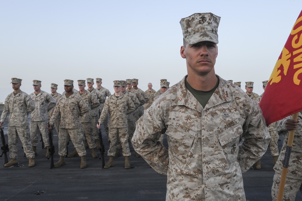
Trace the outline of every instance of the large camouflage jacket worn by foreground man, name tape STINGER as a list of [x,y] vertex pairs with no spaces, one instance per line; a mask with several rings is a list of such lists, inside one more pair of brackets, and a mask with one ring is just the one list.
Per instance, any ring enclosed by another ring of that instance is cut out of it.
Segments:
[[[218,78],[205,108],[183,78],[136,123],[132,145],[154,170],[167,174],[166,200],[245,200],[241,173],[267,149],[270,136],[259,105]],[[157,142],[162,133],[169,150]]]

